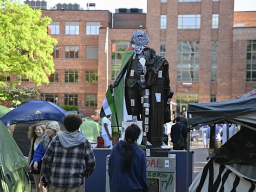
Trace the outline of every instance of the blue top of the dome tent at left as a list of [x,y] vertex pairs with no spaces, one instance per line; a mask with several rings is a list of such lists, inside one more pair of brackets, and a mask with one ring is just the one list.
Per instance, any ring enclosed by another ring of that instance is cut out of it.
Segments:
[[7,112],[1,117],[1,121],[5,126],[31,120],[58,120],[63,122],[65,114],[66,111],[53,102],[32,100]]

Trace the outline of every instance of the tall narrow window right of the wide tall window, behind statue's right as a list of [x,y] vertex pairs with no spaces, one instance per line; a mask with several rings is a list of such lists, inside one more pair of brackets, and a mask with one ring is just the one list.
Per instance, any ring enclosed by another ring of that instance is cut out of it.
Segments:
[[211,41],[210,81],[217,81],[218,41]]

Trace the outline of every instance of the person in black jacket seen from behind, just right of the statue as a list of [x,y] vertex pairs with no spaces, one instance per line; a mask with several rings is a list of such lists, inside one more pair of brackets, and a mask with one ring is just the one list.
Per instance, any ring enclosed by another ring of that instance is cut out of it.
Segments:
[[182,136],[186,140],[186,126],[181,123],[180,116],[177,116],[176,117],[176,123],[171,126],[171,131],[170,131],[171,142],[173,143],[173,149],[174,150],[186,149],[184,147],[178,146],[178,144],[177,144],[178,139],[180,138],[180,136]]

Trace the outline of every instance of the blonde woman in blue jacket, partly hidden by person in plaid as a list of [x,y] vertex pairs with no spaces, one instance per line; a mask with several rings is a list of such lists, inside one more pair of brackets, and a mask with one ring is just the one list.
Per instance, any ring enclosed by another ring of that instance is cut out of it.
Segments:
[[[60,127],[57,121],[55,120],[50,120],[46,123],[46,135],[44,135],[37,146],[36,150],[34,151],[33,154],[33,169],[38,170],[40,172],[40,164],[41,164],[41,159],[47,149],[47,146],[50,142],[50,140],[60,133]],[[39,191],[46,191],[46,188],[44,186],[40,186],[40,190],[36,190],[36,192]]]

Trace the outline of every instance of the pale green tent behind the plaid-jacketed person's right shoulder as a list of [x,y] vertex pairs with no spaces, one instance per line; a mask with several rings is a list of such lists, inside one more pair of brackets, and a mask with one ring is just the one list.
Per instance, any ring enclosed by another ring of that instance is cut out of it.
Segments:
[[94,120],[85,119],[80,126],[80,130],[87,139],[96,141],[99,136],[101,126]]

